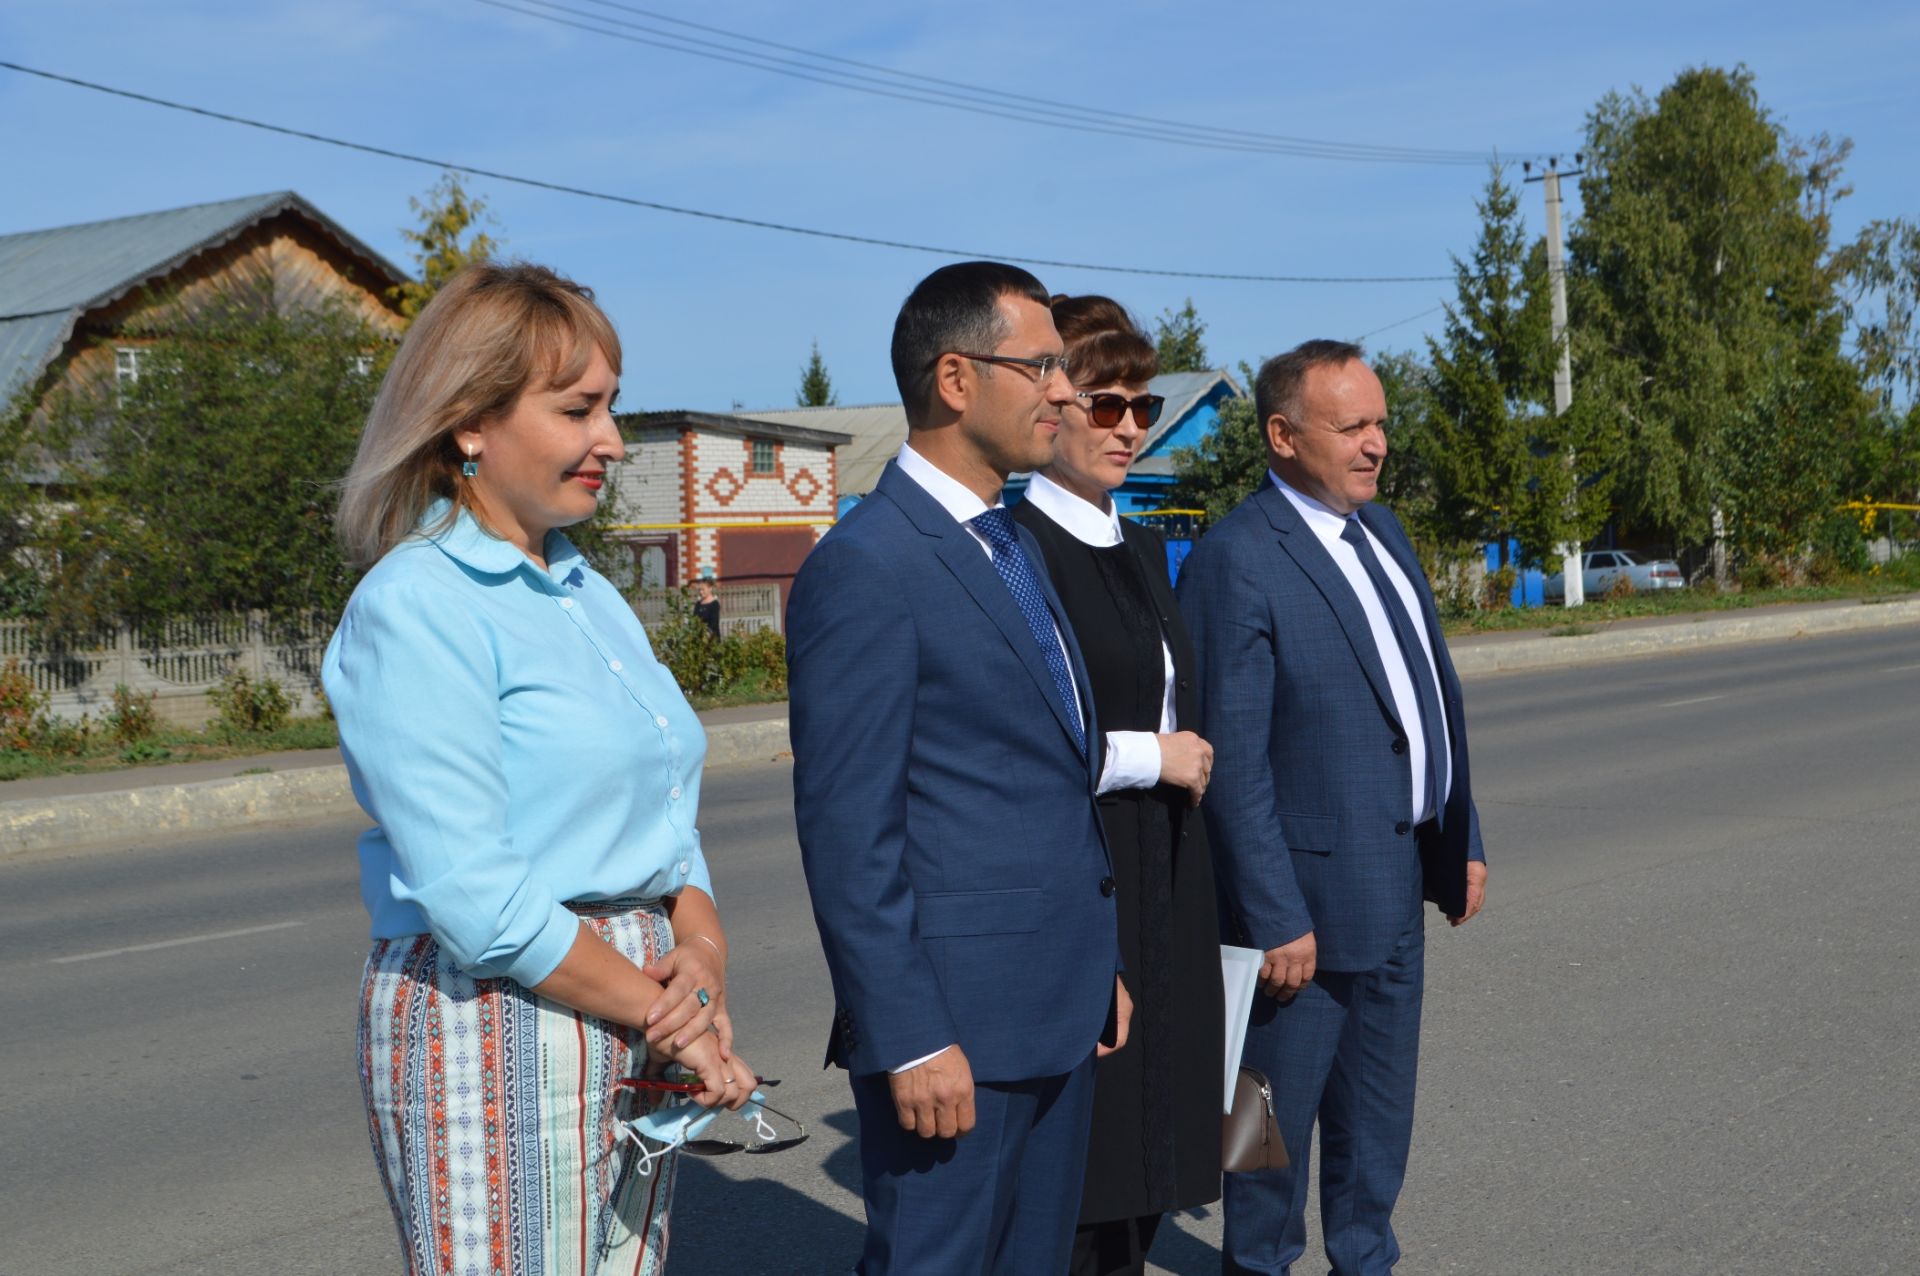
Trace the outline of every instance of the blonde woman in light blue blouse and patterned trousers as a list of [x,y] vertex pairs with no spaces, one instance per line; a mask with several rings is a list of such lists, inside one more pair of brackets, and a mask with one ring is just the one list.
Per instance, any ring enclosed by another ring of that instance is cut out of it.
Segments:
[[[367,578],[323,679],[372,954],[361,1082],[411,1272],[657,1272],[674,1157],[620,1122],[649,1063],[739,1107],[707,739],[566,541],[624,447],[620,342],[532,265],[459,272],[407,332],[340,501]],[[657,1092],[647,1092],[657,1094]]]

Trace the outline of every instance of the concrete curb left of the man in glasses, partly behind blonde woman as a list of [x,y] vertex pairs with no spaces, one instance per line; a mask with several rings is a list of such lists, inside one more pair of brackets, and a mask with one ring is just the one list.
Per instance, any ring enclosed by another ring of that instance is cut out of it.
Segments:
[[[707,727],[707,766],[776,762],[789,752],[787,720]],[[357,810],[344,766],[232,775],[190,785],[0,802],[0,858],[169,833],[217,833]]]

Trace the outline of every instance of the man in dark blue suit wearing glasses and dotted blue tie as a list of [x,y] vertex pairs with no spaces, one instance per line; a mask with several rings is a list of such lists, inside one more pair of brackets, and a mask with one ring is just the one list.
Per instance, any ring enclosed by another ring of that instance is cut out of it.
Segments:
[[1131,1013],[1087,670],[1000,505],[1073,397],[1048,295],[964,263],[893,330],[908,439],[787,604],[793,808],[851,1073],[858,1270],[1064,1272]]

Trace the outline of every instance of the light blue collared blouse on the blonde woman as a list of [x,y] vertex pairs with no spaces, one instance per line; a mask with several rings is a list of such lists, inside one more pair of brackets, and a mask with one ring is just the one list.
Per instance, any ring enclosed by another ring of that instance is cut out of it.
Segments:
[[372,936],[430,933],[470,975],[522,984],[580,933],[566,900],[712,894],[707,733],[620,593],[559,532],[545,551],[541,572],[465,512],[403,541],[321,670],[376,821],[359,839]]

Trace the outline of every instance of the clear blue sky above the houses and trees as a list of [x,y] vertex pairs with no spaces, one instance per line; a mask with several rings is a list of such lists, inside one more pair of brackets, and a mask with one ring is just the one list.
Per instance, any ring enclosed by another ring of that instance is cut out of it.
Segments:
[[[515,0],[520,2],[520,0]],[[641,21],[595,0],[559,0]],[[636,0],[924,77],[1336,142],[1571,155],[1607,90],[1745,63],[1797,134],[1851,136],[1843,234],[1920,215],[1920,6],[1279,0],[833,6]],[[1357,17],[1356,17],[1357,15]],[[543,180],[979,253],[1256,274],[1448,274],[1478,167],[1246,155],[956,113],[476,0],[0,0],[0,58]],[[1016,107],[1018,109],[1018,107]],[[0,71],[0,232],[294,188],[407,263],[430,169]],[[818,340],[843,403],[895,397],[899,299],[941,257],[472,182],[507,251],[589,284],[622,403],[789,405]],[[1576,192],[1569,184],[1569,198]],[[1540,186],[1526,188],[1542,224]],[[1574,203],[1576,209],[1576,203]],[[1419,347],[1448,284],[1248,284],[1037,271],[1150,320],[1192,297],[1217,363],[1309,336]],[[1409,320],[1409,322],[1400,322]],[[1384,328],[1384,330],[1382,330]]]

